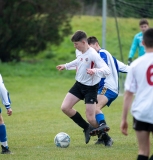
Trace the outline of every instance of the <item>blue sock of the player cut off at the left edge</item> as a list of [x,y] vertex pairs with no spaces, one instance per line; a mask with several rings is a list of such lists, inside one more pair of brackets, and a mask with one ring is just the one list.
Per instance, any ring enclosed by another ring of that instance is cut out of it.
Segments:
[[0,141],[4,147],[8,148],[5,124],[0,124]]

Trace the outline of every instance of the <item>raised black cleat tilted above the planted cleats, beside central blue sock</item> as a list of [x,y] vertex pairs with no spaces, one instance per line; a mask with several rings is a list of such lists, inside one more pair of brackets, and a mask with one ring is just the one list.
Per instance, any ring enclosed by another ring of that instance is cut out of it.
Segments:
[[108,132],[109,130],[110,130],[110,128],[106,124],[102,124],[98,128],[93,129],[90,132],[90,135],[91,136],[96,136],[96,135],[99,135],[100,133]]

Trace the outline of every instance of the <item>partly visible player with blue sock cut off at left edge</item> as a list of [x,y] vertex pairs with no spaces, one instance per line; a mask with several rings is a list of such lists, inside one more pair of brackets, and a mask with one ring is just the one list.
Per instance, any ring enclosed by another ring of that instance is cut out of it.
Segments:
[[[11,101],[9,98],[9,93],[5,88],[5,85],[3,83],[2,76],[0,75],[0,98],[2,100],[3,105],[5,106],[7,110],[8,116],[12,115],[12,109],[11,109]],[[11,151],[9,150],[8,143],[7,143],[7,135],[6,135],[6,127],[3,121],[2,113],[0,108],[0,142],[2,147],[1,154],[10,154]]]

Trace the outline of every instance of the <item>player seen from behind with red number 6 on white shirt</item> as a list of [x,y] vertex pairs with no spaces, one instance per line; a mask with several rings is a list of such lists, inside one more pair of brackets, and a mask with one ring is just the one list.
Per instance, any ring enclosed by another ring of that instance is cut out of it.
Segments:
[[[142,43],[146,53],[131,63],[125,81],[121,131],[128,135],[127,114],[132,104],[133,128],[139,147],[137,160],[148,160],[150,133],[153,133],[153,28],[144,32]],[[153,155],[149,160],[153,160]]]

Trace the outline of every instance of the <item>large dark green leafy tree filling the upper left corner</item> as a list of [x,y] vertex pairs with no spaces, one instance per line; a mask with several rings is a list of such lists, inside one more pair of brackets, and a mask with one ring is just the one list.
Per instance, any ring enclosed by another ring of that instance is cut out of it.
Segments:
[[38,54],[47,43],[60,44],[71,33],[75,0],[0,0],[0,59],[20,60],[20,53]]

